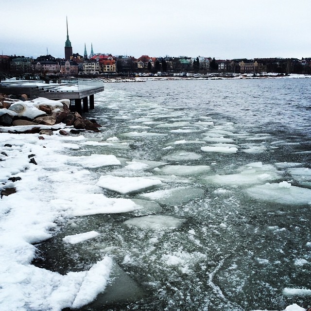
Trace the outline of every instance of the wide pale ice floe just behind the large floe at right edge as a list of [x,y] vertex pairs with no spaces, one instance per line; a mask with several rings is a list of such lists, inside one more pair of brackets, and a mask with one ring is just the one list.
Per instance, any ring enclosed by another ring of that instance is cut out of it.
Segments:
[[260,164],[257,164],[257,166],[255,164],[255,166],[242,166],[239,169],[241,173],[206,176],[203,178],[203,182],[207,184],[244,186],[262,184],[264,181],[275,180],[280,177],[279,172],[272,165],[262,165],[260,167]]

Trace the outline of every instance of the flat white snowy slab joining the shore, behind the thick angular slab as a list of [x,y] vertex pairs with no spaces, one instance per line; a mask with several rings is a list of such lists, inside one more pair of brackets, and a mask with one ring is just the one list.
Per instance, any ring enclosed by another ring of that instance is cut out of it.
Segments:
[[85,168],[97,168],[101,166],[121,165],[115,155],[70,156],[68,163],[80,164]]

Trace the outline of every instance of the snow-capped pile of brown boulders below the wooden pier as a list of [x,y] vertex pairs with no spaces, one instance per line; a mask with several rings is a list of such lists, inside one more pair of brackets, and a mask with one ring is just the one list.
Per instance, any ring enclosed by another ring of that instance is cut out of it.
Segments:
[[[84,119],[79,113],[70,111],[69,100],[51,101],[43,98],[28,100],[25,94],[20,97],[0,94],[0,132],[1,126],[12,126],[12,131],[9,132],[17,133],[14,127],[22,125],[32,125],[32,127],[21,131],[18,127],[19,133],[40,133],[42,131],[40,125],[53,126],[50,130],[52,132],[57,130],[54,125],[60,123],[72,126],[76,130],[85,129],[94,132],[99,132],[101,127],[95,120]],[[65,131],[63,133],[67,134]]]

